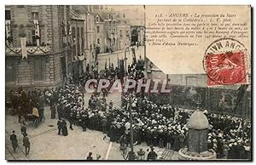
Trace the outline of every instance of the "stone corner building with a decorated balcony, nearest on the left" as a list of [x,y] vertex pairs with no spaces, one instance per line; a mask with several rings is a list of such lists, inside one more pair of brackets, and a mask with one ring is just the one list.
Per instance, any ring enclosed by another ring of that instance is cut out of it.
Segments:
[[69,6],[6,5],[6,88],[55,87],[66,77]]

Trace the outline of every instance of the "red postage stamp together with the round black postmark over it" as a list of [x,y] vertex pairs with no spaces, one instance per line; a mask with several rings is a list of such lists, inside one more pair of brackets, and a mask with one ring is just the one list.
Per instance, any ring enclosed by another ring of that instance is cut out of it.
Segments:
[[221,38],[211,43],[205,52],[203,65],[207,85],[247,83],[247,48],[233,38]]

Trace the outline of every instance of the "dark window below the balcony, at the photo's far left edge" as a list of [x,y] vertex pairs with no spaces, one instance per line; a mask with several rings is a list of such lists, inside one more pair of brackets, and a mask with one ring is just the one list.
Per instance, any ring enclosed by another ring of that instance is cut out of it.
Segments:
[[15,82],[15,80],[16,80],[15,61],[13,59],[6,60],[5,80],[7,82]]

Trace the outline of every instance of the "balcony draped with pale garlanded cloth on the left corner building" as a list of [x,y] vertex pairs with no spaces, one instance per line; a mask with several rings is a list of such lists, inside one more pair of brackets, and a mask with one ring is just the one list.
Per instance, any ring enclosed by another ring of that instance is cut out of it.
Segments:
[[[26,46],[27,55],[48,55],[49,46]],[[21,48],[5,46],[5,54],[8,56],[21,55]]]

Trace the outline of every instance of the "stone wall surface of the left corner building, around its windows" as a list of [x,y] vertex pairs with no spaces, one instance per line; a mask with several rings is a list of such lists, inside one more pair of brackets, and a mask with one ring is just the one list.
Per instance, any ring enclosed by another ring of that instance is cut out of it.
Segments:
[[[21,5],[22,6],[22,5]],[[11,31],[13,32],[14,47],[20,48],[20,25],[26,26],[27,41],[32,40],[32,12],[38,12],[39,28],[41,44],[48,43],[49,52],[28,54],[28,60],[21,59],[20,53],[6,53],[6,58],[15,60],[16,79],[14,82],[7,82],[6,88],[18,88],[25,86],[29,88],[39,88],[44,86],[55,87],[62,82],[61,71],[61,6],[51,5],[23,5],[22,8],[17,5],[8,5],[6,9],[11,11]],[[64,17],[67,14],[64,14]],[[38,46],[26,46],[26,48],[38,48]],[[45,48],[45,46],[40,46]],[[35,58],[40,58],[42,62],[43,80],[34,80],[34,66]],[[6,75],[8,76],[8,75]]]

